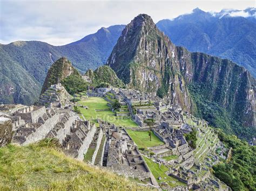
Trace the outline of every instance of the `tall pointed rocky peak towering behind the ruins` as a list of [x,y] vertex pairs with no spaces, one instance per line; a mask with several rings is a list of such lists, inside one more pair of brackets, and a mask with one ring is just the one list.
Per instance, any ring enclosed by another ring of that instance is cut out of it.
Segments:
[[106,65],[130,88],[158,94],[172,104],[180,104],[184,110],[191,110],[176,48],[150,16],[141,14],[125,27]]

